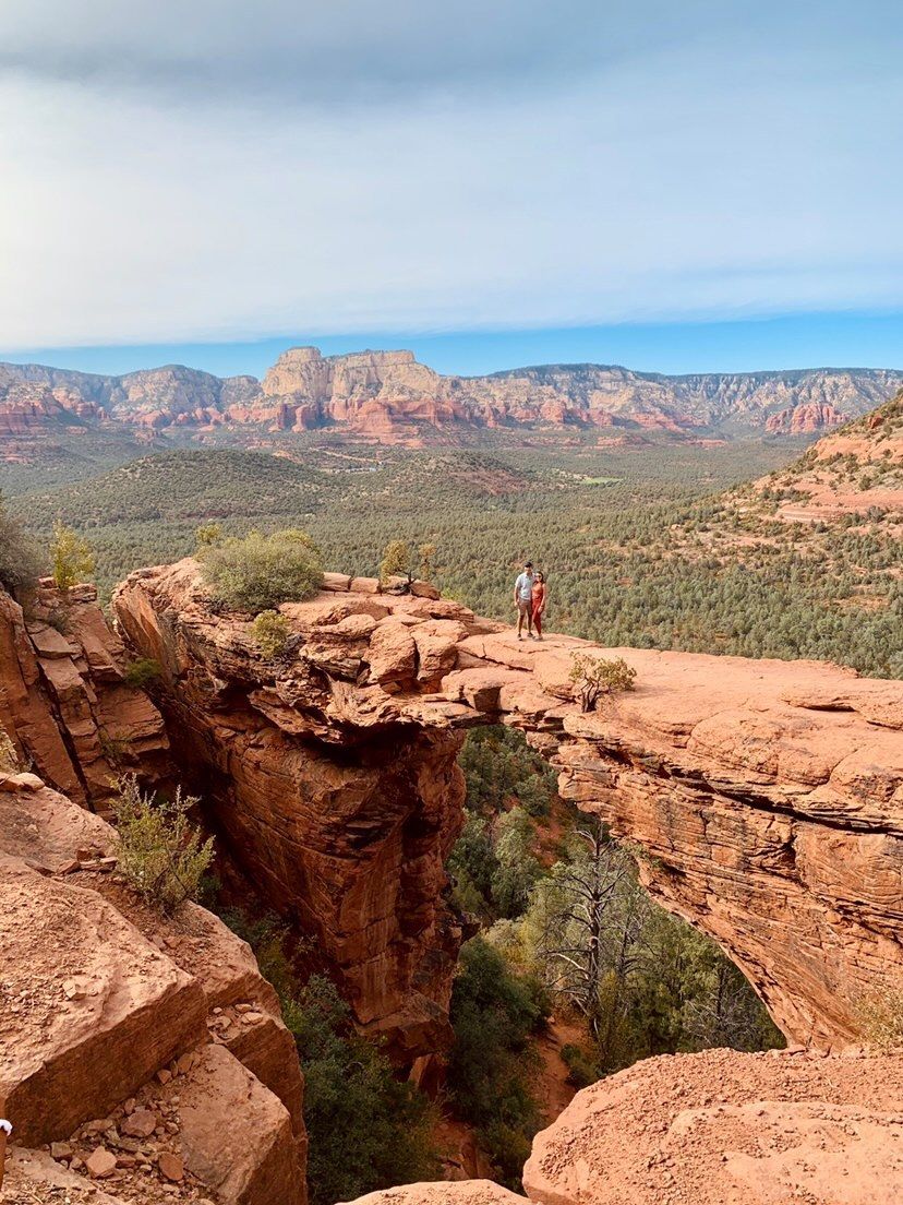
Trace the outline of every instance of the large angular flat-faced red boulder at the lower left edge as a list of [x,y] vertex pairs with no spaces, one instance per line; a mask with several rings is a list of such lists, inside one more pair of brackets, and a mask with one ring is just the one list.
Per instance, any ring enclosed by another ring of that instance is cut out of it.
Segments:
[[0,929],[0,1099],[19,1141],[67,1138],[205,1038],[200,984],[94,892],[4,857]]

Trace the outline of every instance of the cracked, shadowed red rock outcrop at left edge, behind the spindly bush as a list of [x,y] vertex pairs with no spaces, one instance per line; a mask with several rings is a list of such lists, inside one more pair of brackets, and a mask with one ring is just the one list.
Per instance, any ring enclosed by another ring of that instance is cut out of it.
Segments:
[[93,586],[64,595],[46,578],[28,615],[0,590],[0,727],[76,803],[102,809],[125,771],[148,784],[171,772],[163,717],[128,668]]

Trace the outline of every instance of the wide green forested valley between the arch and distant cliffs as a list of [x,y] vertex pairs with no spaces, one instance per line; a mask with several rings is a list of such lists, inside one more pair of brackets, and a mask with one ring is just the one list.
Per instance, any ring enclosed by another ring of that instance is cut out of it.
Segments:
[[443,592],[503,619],[530,556],[548,575],[549,628],[613,647],[810,657],[903,676],[899,543],[883,516],[802,529],[777,523],[767,498],[746,511],[725,501],[798,445],[258,442],[100,472],[79,459],[69,482],[54,464],[49,487],[18,469],[0,481],[45,546],[55,519],[87,536],[107,593],[131,569],[191,553],[202,523],[225,534],[302,527],[327,568],[352,574],[376,574],[391,540],[431,542]]

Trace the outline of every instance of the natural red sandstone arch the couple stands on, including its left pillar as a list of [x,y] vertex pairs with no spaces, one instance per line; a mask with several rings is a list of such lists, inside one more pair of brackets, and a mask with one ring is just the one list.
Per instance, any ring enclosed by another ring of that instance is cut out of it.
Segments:
[[[858,1040],[870,995],[903,974],[903,683],[518,642],[448,600],[326,584],[281,609],[278,663],[247,618],[213,613],[194,562],[134,574],[113,606],[164,668],[158,703],[177,753],[203,766],[222,846],[315,937],[361,1024],[408,1056],[441,1046],[454,756],[464,729],[504,722],[644,851],[649,890],[727,951],[790,1039]],[[574,651],[625,657],[637,689],[583,715]]]

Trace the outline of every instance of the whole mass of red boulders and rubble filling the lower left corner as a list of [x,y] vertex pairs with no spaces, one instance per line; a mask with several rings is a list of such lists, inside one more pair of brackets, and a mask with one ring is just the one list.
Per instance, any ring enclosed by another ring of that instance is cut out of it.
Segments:
[[29,1185],[104,1200],[96,1178],[136,1205],[303,1205],[301,1071],[272,987],[217,917],[161,917],[114,866],[105,821],[4,778],[0,1111],[25,1148],[11,1181],[23,1200],[43,1199]]

